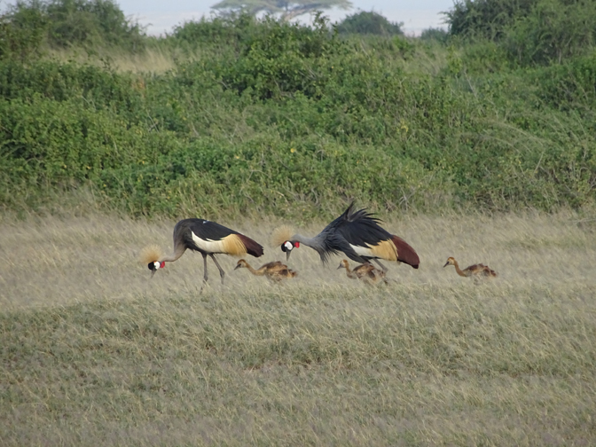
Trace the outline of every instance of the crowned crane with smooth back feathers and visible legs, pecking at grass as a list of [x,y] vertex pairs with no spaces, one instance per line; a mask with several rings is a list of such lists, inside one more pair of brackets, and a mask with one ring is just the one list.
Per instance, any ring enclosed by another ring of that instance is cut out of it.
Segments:
[[[176,223],[174,227],[174,251],[171,255],[163,255],[159,247],[146,247],[141,253],[141,261],[146,263],[151,271],[151,277],[155,271],[163,269],[166,263],[173,263],[184,252],[189,249],[198,251],[203,255],[204,275],[203,286],[207,283],[207,256],[211,256],[213,262],[219,269],[219,275],[222,278],[225,272],[216,260],[216,255],[253,255],[259,257],[263,255],[263,247],[238,231],[210,222],[204,219],[183,219]],[[203,287],[201,286],[201,291]]]

